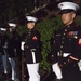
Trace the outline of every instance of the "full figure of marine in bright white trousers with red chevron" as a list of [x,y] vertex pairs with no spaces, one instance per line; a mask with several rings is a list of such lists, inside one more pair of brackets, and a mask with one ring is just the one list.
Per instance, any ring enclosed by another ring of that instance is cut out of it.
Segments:
[[42,59],[40,48],[40,32],[31,26],[37,21],[36,17],[27,16],[29,31],[23,36],[23,42],[25,42],[25,62],[27,65],[29,81],[40,81],[39,63]]

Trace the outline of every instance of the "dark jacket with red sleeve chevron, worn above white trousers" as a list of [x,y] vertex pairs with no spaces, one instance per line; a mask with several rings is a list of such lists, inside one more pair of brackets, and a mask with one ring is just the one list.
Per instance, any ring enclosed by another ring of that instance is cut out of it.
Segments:
[[[30,33],[30,36],[29,36]],[[28,35],[25,33],[23,39],[25,42],[25,58],[27,64],[33,64],[41,62],[41,49],[40,49],[40,33],[37,29],[32,28]],[[32,52],[35,52],[35,60],[32,58]]]

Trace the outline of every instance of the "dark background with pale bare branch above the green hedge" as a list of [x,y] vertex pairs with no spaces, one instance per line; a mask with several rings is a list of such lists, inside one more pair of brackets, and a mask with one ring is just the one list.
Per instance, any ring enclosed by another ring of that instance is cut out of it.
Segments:
[[57,4],[62,1],[72,1],[81,6],[81,0],[0,0],[0,26],[6,27],[8,22],[14,21],[24,25],[25,16],[30,14],[40,19],[56,16]]

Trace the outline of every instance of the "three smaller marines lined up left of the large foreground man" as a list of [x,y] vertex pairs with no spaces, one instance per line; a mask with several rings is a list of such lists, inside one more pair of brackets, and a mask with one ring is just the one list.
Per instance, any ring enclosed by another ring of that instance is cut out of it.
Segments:
[[38,21],[33,16],[26,16],[28,32],[23,33],[22,37],[16,31],[17,25],[9,23],[9,30],[0,28],[0,55],[2,56],[2,64],[4,72],[9,73],[8,62],[11,66],[11,80],[19,81],[22,69],[19,62],[22,60],[22,52],[24,53],[25,63],[27,66],[29,81],[40,81],[39,63],[42,60],[40,32],[35,28]]

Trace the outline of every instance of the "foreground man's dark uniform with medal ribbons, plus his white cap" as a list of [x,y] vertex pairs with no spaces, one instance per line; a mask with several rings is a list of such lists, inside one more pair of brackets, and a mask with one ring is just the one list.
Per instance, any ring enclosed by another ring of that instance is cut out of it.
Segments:
[[[72,2],[62,2],[58,8],[63,16],[70,12],[75,13],[79,6]],[[81,59],[81,26],[72,22],[59,28],[54,36],[52,53],[54,65],[58,64],[63,81],[81,81],[78,66]]]

